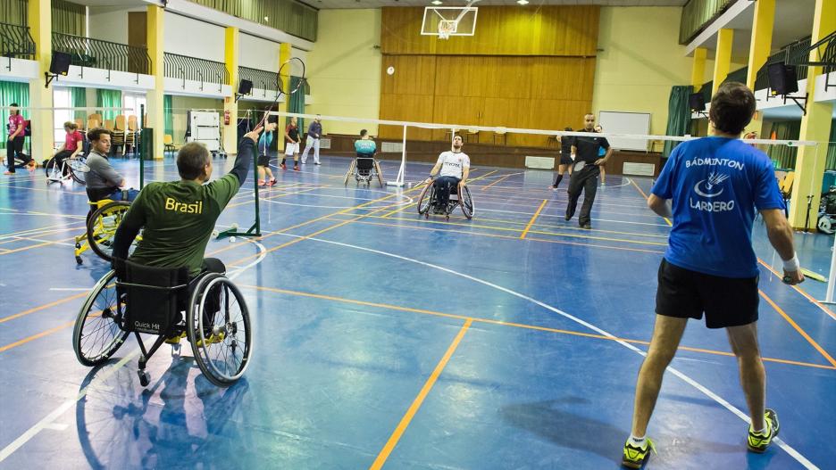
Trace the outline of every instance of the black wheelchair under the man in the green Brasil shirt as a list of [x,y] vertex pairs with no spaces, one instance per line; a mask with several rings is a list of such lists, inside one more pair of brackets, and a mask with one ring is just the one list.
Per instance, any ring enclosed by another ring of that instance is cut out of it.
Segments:
[[[253,349],[252,322],[244,296],[227,276],[204,272],[188,279],[187,268],[153,268],[116,260],[81,306],[72,331],[79,362],[95,367],[110,359],[133,333],[146,363],[166,338],[186,336],[197,367],[211,383],[227,387],[244,375]],[[185,323],[181,320],[185,313]],[[158,335],[150,349],[140,334]],[[172,346],[180,352],[180,343]]]

